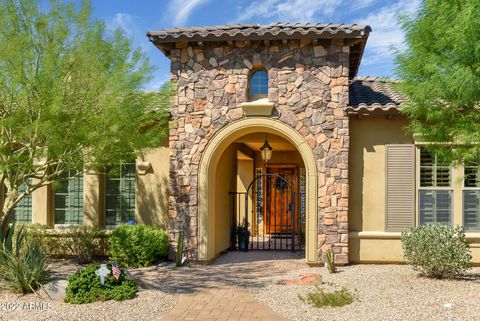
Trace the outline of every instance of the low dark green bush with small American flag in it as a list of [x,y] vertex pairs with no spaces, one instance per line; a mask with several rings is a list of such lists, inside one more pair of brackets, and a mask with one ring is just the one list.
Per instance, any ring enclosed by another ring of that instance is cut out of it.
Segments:
[[[112,271],[111,264],[107,265]],[[118,281],[112,273],[105,277],[105,284],[100,283],[100,277],[95,273],[100,264],[90,264],[77,270],[68,278],[65,302],[74,304],[91,303],[96,301],[123,301],[132,299],[137,293],[135,280],[122,271]]]

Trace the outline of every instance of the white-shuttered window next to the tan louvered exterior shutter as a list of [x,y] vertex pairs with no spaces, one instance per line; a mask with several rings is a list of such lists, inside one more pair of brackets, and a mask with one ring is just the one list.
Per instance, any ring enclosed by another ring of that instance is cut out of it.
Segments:
[[420,149],[418,212],[420,224],[452,223],[452,169],[437,156]]

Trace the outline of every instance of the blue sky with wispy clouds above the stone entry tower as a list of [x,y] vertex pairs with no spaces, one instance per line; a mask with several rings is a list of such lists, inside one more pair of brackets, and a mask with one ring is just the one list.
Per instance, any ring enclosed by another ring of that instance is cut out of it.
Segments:
[[[80,3],[80,0],[74,0]],[[109,30],[123,28],[157,67],[148,90],[169,78],[169,61],[145,36],[169,27],[229,23],[312,22],[368,24],[359,76],[394,77],[392,47],[402,49],[398,15],[414,12],[420,0],[92,0],[93,15]]]

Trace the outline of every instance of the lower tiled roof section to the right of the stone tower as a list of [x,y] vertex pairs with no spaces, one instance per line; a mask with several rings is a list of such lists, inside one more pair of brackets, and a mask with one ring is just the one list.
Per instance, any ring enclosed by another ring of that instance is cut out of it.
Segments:
[[395,89],[397,80],[362,77],[350,82],[347,112],[398,111],[406,97]]

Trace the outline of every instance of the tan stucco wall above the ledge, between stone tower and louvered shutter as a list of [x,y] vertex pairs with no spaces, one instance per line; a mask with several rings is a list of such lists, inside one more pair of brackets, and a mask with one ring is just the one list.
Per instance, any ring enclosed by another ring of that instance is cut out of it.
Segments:
[[403,117],[350,119],[349,230],[385,230],[385,145],[413,144]]

